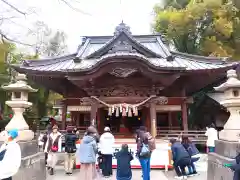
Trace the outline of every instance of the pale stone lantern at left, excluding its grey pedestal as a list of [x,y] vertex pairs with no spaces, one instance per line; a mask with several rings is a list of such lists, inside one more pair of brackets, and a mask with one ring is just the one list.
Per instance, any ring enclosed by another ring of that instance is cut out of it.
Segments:
[[34,138],[34,133],[29,130],[29,126],[23,117],[23,112],[26,108],[32,106],[32,103],[28,102],[28,93],[37,92],[37,90],[27,85],[26,75],[24,74],[18,73],[16,81],[16,83],[11,83],[2,87],[2,89],[12,93],[11,100],[6,101],[6,104],[12,108],[14,113],[11,121],[5,127],[5,130],[18,129],[18,140],[28,141]]

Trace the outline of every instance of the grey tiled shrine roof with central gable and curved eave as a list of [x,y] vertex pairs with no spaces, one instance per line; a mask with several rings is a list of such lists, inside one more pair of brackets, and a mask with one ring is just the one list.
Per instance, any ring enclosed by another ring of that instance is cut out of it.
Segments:
[[129,29],[124,29],[123,25],[121,28],[117,29],[115,36],[86,37],[77,53],[42,60],[26,60],[20,66],[13,67],[22,72],[31,70],[67,73],[88,71],[102,62],[116,58],[143,61],[156,69],[182,71],[219,69],[238,65],[238,62],[227,62],[226,58],[172,52],[164,44],[161,35],[133,36],[129,33]]

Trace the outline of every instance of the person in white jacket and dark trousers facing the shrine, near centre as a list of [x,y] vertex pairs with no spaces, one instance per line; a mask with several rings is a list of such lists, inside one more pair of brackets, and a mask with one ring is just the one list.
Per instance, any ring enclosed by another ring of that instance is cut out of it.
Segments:
[[105,177],[112,175],[112,155],[115,143],[114,136],[109,127],[104,128],[104,133],[100,137],[100,151],[103,156],[102,174]]

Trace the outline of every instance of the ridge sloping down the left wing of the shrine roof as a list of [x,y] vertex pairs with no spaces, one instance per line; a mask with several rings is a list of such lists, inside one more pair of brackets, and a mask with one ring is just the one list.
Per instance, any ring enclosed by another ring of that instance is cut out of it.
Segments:
[[27,67],[34,67],[34,66],[45,66],[45,65],[51,65],[58,62],[67,61],[69,59],[74,59],[76,57],[77,53],[72,53],[68,55],[58,56],[58,57],[49,57],[44,59],[33,59],[33,60],[23,60],[22,66]]

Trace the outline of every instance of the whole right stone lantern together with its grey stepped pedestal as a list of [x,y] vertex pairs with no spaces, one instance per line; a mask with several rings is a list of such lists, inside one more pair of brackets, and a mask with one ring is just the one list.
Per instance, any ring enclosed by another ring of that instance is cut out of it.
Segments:
[[215,90],[222,91],[223,101],[220,102],[230,112],[230,117],[224,129],[219,133],[219,140],[215,141],[215,153],[208,155],[208,180],[230,180],[233,172],[223,164],[233,163],[240,151],[240,81],[235,70],[227,72],[228,80]]

